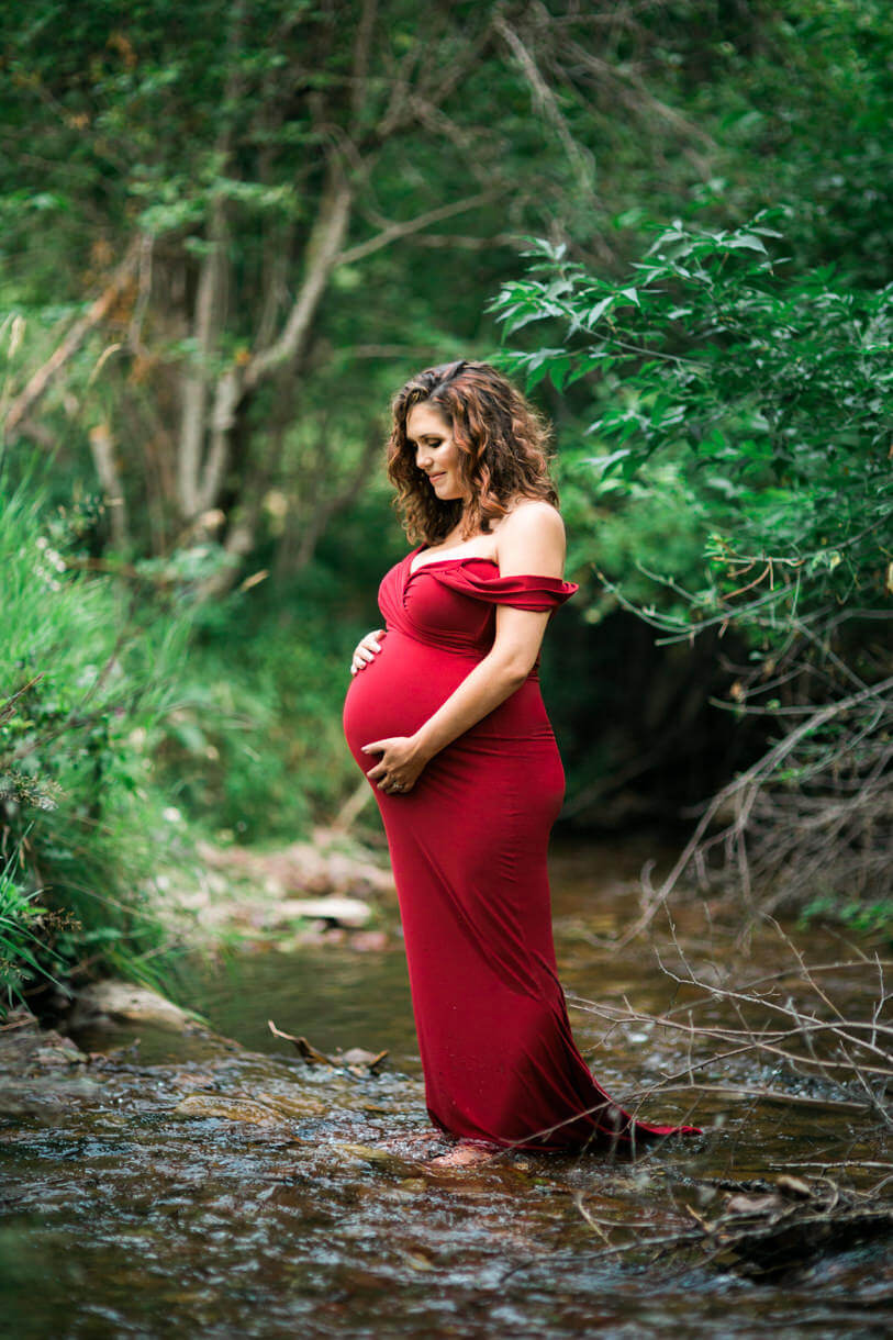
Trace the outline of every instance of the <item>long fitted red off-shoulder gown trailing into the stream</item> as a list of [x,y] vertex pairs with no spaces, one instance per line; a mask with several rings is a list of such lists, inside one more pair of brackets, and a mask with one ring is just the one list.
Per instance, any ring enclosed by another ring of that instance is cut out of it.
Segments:
[[[489,651],[497,604],[555,610],[577,587],[499,575],[489,559],[413,549],[383,578],[382,650],[351,681],[345,734],[409,736]],[[556,977],[546,854],[564,773],[536,666],[436,754],[414,788],[377,785],[400,899],[432,1122],[518,1148],[625,1147],[696,1127],[634,1120],[593,1079]]]

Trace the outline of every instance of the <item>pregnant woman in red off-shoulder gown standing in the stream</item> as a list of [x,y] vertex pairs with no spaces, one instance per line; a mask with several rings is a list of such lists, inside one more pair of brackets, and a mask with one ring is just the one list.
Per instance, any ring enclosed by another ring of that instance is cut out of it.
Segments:
[[546,852],[564,773],[536,669],[577,587],[544,442],[487,363],[396,395],[388,472],[422,543],[381,583],[385,627],[357,647],[345,702],[388,833],[428,1112],[456,1139],[432,1164],[696,1130],[610,1100],[556,977]]

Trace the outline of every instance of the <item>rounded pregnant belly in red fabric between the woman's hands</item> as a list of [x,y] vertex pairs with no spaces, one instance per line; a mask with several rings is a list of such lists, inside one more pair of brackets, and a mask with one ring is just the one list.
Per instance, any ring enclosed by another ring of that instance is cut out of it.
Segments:
[[388,736],[410,736],[428,721],[477,665],[473,653],[432,647],[390,630],[375,659],[351,679],[345,698],[345,737],[363,770],[362,745]]

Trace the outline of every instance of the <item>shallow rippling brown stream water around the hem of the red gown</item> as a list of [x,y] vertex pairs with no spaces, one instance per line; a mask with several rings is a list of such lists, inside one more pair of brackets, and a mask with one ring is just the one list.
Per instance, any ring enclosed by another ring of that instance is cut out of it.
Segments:
[[[598,943],[638,910],[640,858],[589,850],[552,862],[571,1022],[619,1101],[684,1072],[689,1056],[674,1033],[636,1021],[610,1028],[574,1004],[626,997],[657,1013],[681,998],[654,955],[677,953],[665,923],[619,953]],[[739,1085],[735,1097],[652,1097],[644,1116],[707,1132],[633,1164],[507,1152],[473,1170],[429,1168],[448,1146],[426,1119],[402,945],[394,914],[385,921],[383,949],[326,943],[196,966],[181,1004],[211,1030],[82,1030],[74,1041],[88,1064],[35,1059],[5,1103],[0,1092],[0,1333],[889,1333],[884,1240],[762,1280],[697,1250],[648,1245],[691,1229],[692,1210],[712,1214],[723,1181],[825,1170],[868,1187],[884,1164],[893,1171],[874,1119],[823,1108],[815,1084],[782,1064],[747,1055],[699,1071],[704,1083]],[[699,973],[731,953],[701,906],[676,914],[676,934]],[[811,962],[843,957],[834,938],[810,934]],[[741,973],[790,963],[780,937],[760,930]],[[838,1005],[864,1009],[869,976],[831,973],[823,985]],[[271,1034],[270,1018],[323,1052],[386,1048],[388,1063],[378,1075],[308,1067]],[[748,1085],[818,1096],[817,1106],[748,1097]]]

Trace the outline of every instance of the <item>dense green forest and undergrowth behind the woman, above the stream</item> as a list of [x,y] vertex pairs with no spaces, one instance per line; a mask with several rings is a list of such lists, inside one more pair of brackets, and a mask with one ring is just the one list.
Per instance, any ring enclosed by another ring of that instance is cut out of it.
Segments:
[[357,808],[389,398],[456,356],[555,427],[563,824],[889,925],[889,4],[13,0],[0,98],[9,998]]

